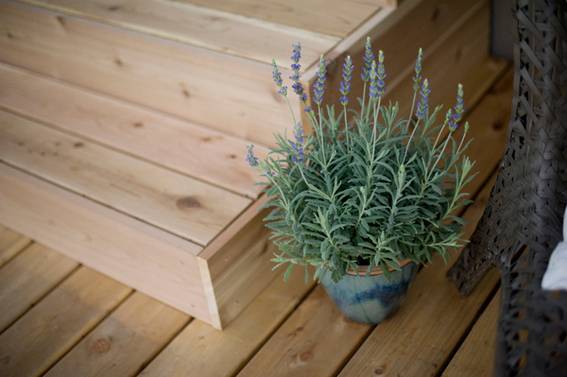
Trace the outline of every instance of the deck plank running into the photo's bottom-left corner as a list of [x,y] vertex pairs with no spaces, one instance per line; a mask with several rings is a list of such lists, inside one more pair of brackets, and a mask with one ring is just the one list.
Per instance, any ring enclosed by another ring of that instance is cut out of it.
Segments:
[[0,335],[2,376],[42,374],[130,292],[110,278],[79,268]]

